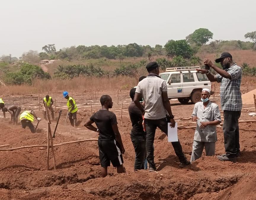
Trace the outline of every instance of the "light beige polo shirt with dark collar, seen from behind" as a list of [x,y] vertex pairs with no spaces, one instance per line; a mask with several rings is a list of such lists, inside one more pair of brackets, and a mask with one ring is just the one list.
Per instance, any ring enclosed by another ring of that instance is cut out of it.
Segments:
[[156,74],[149,74],[147,78],[138,83],[135,92],[142,95],[145,102],[145,119],[156,120],[166,117],[168,113],[162,100],[162,92],[167,93],[165,80]]

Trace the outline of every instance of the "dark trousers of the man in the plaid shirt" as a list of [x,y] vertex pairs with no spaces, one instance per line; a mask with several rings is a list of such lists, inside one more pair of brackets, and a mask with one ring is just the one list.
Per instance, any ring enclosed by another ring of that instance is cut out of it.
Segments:
[[224,111],[223,134],[226,154],[229,158],[236,157],[240,152],[238,119],[241,111]]

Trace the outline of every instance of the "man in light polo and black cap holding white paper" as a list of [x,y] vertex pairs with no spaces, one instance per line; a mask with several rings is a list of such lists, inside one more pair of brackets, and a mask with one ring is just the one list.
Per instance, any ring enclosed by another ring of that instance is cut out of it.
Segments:
[[[146,66],[148,71],[147,78],[140,81],[137,85],[134,97],[135,105],[142,113],[145,113],[146,125],[146,151],[149,164],[149,172],[156,170],[154,162],[154,139],[156,128],[158,127],[166,135],[168,135],[168,123],[171,127],[175,127],[174,116],[172,115],[171,105],[167,96],[166,82],[159,76],[159,65],[156,62],[148,63]],[[140,104],[140,99],[143,97],[145,109]],[[185,167],[190,164],[182,151],[180,141],[172,142],[175,154],[180,160],[180,167]]]

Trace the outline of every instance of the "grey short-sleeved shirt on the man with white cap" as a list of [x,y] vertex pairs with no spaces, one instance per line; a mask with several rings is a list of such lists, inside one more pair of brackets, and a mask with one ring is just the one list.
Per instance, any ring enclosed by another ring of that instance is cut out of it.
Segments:
[[200,129],[201,122],[204,121],[221,121],[219,106],[209,101],[204,109],[203,102],[197,102],[194,106],[192,116],[197,116],[197,126],[194,140],[199,142],[216,142],[216,126],[208,125],[204,129]]

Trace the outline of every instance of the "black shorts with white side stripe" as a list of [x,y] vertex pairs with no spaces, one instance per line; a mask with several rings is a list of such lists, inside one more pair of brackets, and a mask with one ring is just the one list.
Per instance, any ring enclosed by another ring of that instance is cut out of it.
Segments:
[[98,140],[101,167],[119,167],[124,163],[121,148],[116,140]]

